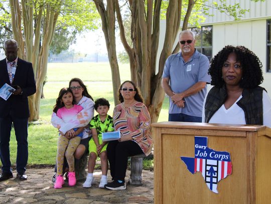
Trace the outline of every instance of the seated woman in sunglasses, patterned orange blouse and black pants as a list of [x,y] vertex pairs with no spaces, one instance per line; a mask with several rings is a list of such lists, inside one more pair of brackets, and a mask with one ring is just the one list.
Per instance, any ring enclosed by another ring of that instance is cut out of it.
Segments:
[[124,178],[128,156],[149,155],[153,144],[151,117],[137,86],[132,81],[123,82],[118,90],[118,99],[120,104],[114,108],[113,123],[121,137],[109,141],[106,149],[114,181],[104,187],[110,190],[126,189]]

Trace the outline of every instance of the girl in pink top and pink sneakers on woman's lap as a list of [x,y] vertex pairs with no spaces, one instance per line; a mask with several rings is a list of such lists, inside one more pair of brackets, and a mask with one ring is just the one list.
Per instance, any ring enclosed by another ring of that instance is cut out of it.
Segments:
[[[59,92],[59,96],[56,100],[53,112],[57,114],[64,122],[70,121],[81,110],[82,106],[74,104],[73,95],[70,88],[62,88]],[[64,179],[62,176],[64,154],[69,164],[69,186],[76,184],[75,172],[74,172],[74,151],[80,144],[80,137],[82,137],[82,131],[84,127],[74,128],[75,137],[70,137],[68,134],[63,134],[59,131],[59,138],[57,142],[57,179],[55,182],[55,188],[62,188]]]

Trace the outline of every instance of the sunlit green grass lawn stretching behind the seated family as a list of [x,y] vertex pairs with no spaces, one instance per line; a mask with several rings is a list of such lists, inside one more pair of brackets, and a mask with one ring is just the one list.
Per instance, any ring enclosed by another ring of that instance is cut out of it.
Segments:
[[[120,64],[119,70],[121,81],[130,79],[128,64]],[[41,99],[40,104],[40,120],[30,124],[28,129],[28,164],[55,163],[58,134],[57,129],[50,123],[51,114],[60,89],[68,87],[69,80],[73,77],[84,81],[94,100],[100,97],[106,98],[111,104],[108,113],[112,115],[114,102],[109,63],[49,63],[47,83],[44,86],[45,99]],[[168,98],[165,98],[159,121],[168,120],[168,106]],[[10,149],[11,161],[15,164],[17,143],[14,130],[12,131]],[[150,163],[150,161],[148,162]]]

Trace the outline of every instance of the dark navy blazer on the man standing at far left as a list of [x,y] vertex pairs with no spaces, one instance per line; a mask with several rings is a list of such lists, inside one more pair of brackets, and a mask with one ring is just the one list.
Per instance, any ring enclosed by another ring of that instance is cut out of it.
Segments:
[[5,84],[18,85],[22,88],[22,95],[11,95],[7,101],[0,97],[0,118],[9,114],[17,118],[28,118],[30,116],[28,107],[28,96],[36,92],[36,83],[32,63],[18,58],[17,68],[11,84],[6,58],[0,61],[0,88]]

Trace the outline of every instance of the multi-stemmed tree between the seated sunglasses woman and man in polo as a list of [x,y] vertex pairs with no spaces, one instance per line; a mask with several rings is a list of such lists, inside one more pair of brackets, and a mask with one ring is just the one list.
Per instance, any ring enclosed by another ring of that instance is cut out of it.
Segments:
[[[259,0],[254,0],[257,1]],[[166,59],[179,51],[179,46],[174,42],[180,28],[185,30],[188,25],[198,26],[199,22],[204,20],[202,15],[208,15],[210,7],[231,16],[234,20],[238,20],[248,11],[241,9],[239,4],[227,5],[226,0],[214,2],[212,5],[206,5],[207,0],[93,0],[93,2],[102,22],[111,66],[115,105],[119,103],[117,90],[120,85],[115,40],[116,32],[119,32],[129,58],[131,80],[141,89],[152,122],[157,122],[165,97],[161,79]],[[124,27],[124,17],[129,18],[128,32],[127,26]],[[163,50],[158,55],[161,19],[166,19],[166,31]]]

